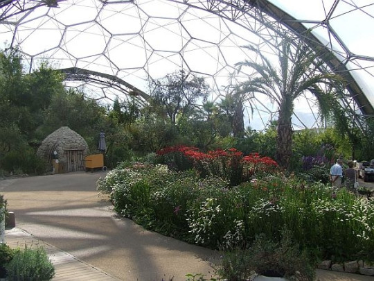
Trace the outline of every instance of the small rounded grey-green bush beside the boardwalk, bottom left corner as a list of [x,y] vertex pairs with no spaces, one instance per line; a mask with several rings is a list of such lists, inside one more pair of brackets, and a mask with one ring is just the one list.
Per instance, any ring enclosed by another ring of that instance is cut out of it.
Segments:
[[9,281],[48,281],[55,275],[55,267],[40,247],[15,250],[6,270]]

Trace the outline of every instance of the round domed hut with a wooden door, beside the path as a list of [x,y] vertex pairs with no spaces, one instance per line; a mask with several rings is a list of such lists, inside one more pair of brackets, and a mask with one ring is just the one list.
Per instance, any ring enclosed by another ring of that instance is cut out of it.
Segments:
[[88,148],[81,135],[69,127],[61,127],[44,139],[37,149],[37,155],[48,160],[55,173],[84,171],[84,157]]

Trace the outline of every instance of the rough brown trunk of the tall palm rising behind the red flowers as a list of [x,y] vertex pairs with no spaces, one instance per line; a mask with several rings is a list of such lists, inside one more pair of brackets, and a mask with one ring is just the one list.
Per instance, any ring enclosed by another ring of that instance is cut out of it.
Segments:
[[[285,116],[286,115],[286,116]],[[292,124],[291,117],[288,117],[283,110],[279,111],[278,127],[276,138],[276,160],[284,169],[290,167],[292,155]]]

